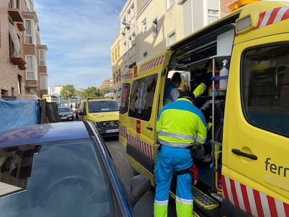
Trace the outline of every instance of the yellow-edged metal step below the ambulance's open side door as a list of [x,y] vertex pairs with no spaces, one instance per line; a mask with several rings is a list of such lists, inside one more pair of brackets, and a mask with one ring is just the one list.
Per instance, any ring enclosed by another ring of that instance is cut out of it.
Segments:
[[198,188],[193,186],[192,192],[193,201],[202,207],[202,209],[216,209],[218,207],[219,204],[216,202],[216,200],[212,199],[208,195],[205,195],[200,190],[198,190]]

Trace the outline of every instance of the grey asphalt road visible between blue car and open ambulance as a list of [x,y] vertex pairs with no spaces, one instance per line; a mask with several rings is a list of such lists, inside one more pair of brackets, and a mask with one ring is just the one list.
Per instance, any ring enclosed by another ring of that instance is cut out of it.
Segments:
[[[121,181],[126,188],[126,191],[130,190],[130,181],[136,174],[131,165],[129,165],[126,158],[126,150],[119,143],[117,138],[105,139],[110,154],[114,159],[114,163],[117,166]],[[151,188],[141,199],[135,204],[133,208],[136,217],[150,217],[154,214],[154,188]],[[170,200],[168,207],[168,217],[175,217],[175,201]]]

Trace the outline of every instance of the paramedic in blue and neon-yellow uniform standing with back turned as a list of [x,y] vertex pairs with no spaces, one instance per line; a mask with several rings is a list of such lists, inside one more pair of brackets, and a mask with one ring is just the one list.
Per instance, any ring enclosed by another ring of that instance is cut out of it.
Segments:
[[[186,170],[193,165],[190,147],[204,144],[207,126],[202,112],[193,105],[193,93],[184,91],[175,102],[165,105],[158,114],[156,134],[158,154],[154,170],[156,195],[154,216],[168,216],[169,190],[175,170]],[[178,217],[193,216],[193,194],[191,174],[177,175],[176,210]]]

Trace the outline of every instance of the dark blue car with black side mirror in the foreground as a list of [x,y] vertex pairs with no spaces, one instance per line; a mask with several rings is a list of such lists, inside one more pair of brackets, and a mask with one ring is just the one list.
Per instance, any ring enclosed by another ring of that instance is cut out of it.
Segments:
[[127,195],[101,135],[87,121],[0,131],[1,216],[133,216],[150,188],[131,180]]

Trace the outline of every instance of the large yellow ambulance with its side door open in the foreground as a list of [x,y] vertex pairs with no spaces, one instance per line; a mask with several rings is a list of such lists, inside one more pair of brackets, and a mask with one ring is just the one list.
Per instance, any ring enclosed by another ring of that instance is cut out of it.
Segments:
[[[131,69],[119,137],[128,162],[154,186],[156,119],[168,75],[189,75],[180,91],[193,91],[211,61],[212,85],[195,100],[209,128],[193,159],[194,215],[289,216],[289,3],[238,4]],[[175,187],[174,177],[172,197]]]

